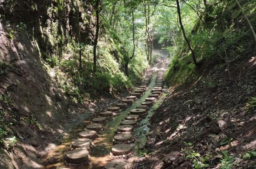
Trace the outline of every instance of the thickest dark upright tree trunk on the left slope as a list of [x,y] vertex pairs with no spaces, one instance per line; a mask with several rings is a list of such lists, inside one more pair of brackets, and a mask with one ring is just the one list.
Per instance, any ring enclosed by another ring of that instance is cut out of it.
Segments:
[[98,44],[98,35],[99,35],[99,30],[100,30],[100,21],[99,21],[99,1],[96,0],[96,34],[95,34],[95,39],[94,39],[94,46],[93,46],[93,70],[96,72],[96,61],[97,61],[97,55],[96,55],[96,49],[97,49],[97,44]]

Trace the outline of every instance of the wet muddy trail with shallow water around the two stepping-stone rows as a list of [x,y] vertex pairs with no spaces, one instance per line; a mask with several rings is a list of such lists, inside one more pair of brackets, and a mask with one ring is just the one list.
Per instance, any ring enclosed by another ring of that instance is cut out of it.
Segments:
[[[166,70],[167,65],[168,59],[158,57],[158,60],[153,67],[146,72],[146,76],[152,76],[150,82],[147,84],[147,90],[144,91],[142,96],[136,99],[136,101],[133,101],[128,107],[121,109],[119,112],[114,112],[112,117],[107,118],[106,123],[103,124],[103,130],[99,131],[97,133],[98,137],[92,140],[94,147],[87,148],[90,156],[89,164],[73,165],[66,163],[66,154],[71,150],[71,142],[79,138],[79,132],[83,131],[84,128],[91,123],[90,121],[86,121],[77,126],[70,134],[70,137],[68,137],[62,145],[57,146],[42,158],[42,161],[44,161],[45,164],[44,169],[63,169],[67,167],[71,169],[103,169],[107,162],[116,158],[125,161],[129,166],[129,163],[132,162],[136,156],[144,152],[144,145],[147,141],[147,134],[149,132],[149,120],[155,113],[155,109],[163,101],[163,98],[166,97],[166,93],[162,92],[163,94],[159,95],[158,99],[152,102],[152,105],[148,107],[146,115],[139,116],[137,124],[131,132],[133,141],[128,142],[128,145],[132,146],[131,153],[122,156],[111,156],[113,145],[120,143],[113,142],[113,138],[117,134],[118,126],[120,126],[120,123],[130,114],[130,111],[141,105],[142,102],[145,102],[145,99],[152,94],[152,89],[155,87],[156,80],[161,80],[163,78],[162,74]],[[164,91],[166,86],[162,87]],[[127,144],[127,142],[125,144]]]

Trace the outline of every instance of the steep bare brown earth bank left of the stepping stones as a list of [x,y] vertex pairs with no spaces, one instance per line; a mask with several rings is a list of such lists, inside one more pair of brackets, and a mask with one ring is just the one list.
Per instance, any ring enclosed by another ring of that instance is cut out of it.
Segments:
[[1,143],[1,169],[42,168],[41,156],[75,126],[72,117],[84,116],[85,110],[74,111],[42,62],[45,55],[61,56],[68,39],[76,38],[74,8],[79,9],[81,40],[90,44],[94,21],[89,1],[0,1],[0,128],[17,140],[9,150],[4,150],[8,142]]

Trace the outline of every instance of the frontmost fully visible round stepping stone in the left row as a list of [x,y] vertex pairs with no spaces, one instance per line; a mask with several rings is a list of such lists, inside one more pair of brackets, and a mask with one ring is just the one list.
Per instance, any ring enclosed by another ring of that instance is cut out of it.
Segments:
[[67,162],[70,164],[87,164],[88,151],[85,149],[76,149],[68,151]]

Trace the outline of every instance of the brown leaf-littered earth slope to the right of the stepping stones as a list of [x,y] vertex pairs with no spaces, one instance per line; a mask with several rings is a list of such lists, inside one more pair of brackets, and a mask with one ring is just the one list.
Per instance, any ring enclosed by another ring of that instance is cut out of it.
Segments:
[[255,169],[255,154],[245,155],[256,150],[256,110],[246,105],[256,96],[256,57],[202,72],[169,87],[134,169]]

